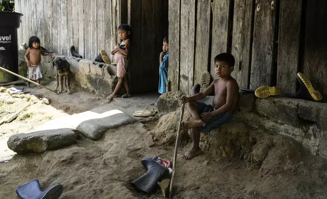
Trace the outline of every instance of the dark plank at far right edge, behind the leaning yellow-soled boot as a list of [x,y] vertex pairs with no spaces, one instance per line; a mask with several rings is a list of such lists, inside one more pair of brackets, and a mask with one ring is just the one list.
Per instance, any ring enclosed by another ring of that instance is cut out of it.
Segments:
[[[308,1],[305,35],[304,74],[315,89],[327,94],[327,2]],[[326,102],[326,97],[323,98]]]

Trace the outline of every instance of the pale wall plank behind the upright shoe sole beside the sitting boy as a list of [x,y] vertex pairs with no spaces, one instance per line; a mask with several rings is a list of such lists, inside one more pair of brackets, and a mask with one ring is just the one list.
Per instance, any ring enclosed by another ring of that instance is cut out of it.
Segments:
[[195,46],[194,84],[200,83],[201,73],[208,71],[211,1],[198,1],[197,45]]

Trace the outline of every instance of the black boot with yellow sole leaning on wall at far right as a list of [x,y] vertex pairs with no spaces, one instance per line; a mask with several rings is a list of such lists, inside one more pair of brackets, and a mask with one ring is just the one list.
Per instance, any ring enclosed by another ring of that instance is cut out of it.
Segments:
[[322,100],[321,93],[313,88],[312,83],[305,75],[303,75],[302,73],[298,73],[297,79],[300,83],[300,89],[295,94],[296,98],[316,102]]

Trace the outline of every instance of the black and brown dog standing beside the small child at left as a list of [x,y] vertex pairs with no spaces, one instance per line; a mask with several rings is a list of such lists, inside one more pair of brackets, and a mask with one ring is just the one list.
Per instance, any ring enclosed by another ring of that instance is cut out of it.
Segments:
[[70,86],[70,79],[69,79],[69,73],[70,73],[70,64],[69,62],[62,58],[62,57],[56,57],[52,61],[53,68],[56,67],[57,73],[56,73],[56,79],[57,79],[57,85],[55,91],[58,90],[59,86],[59,79],[60,79],[60,90],[58,93],[62,93],[63,89],[63,79],[64,79],[64,85],[66,89],[64,92],[67,92],[67,94],[71,94],[71,86]]

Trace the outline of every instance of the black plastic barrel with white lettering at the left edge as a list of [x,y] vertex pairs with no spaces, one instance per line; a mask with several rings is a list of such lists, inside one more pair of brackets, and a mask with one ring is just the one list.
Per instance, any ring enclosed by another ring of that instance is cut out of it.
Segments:
[[[17,29],[21,13],[0,11],[0,67],[18,73]],[[16,76],[0,70],[0,83],[17,80]]]

